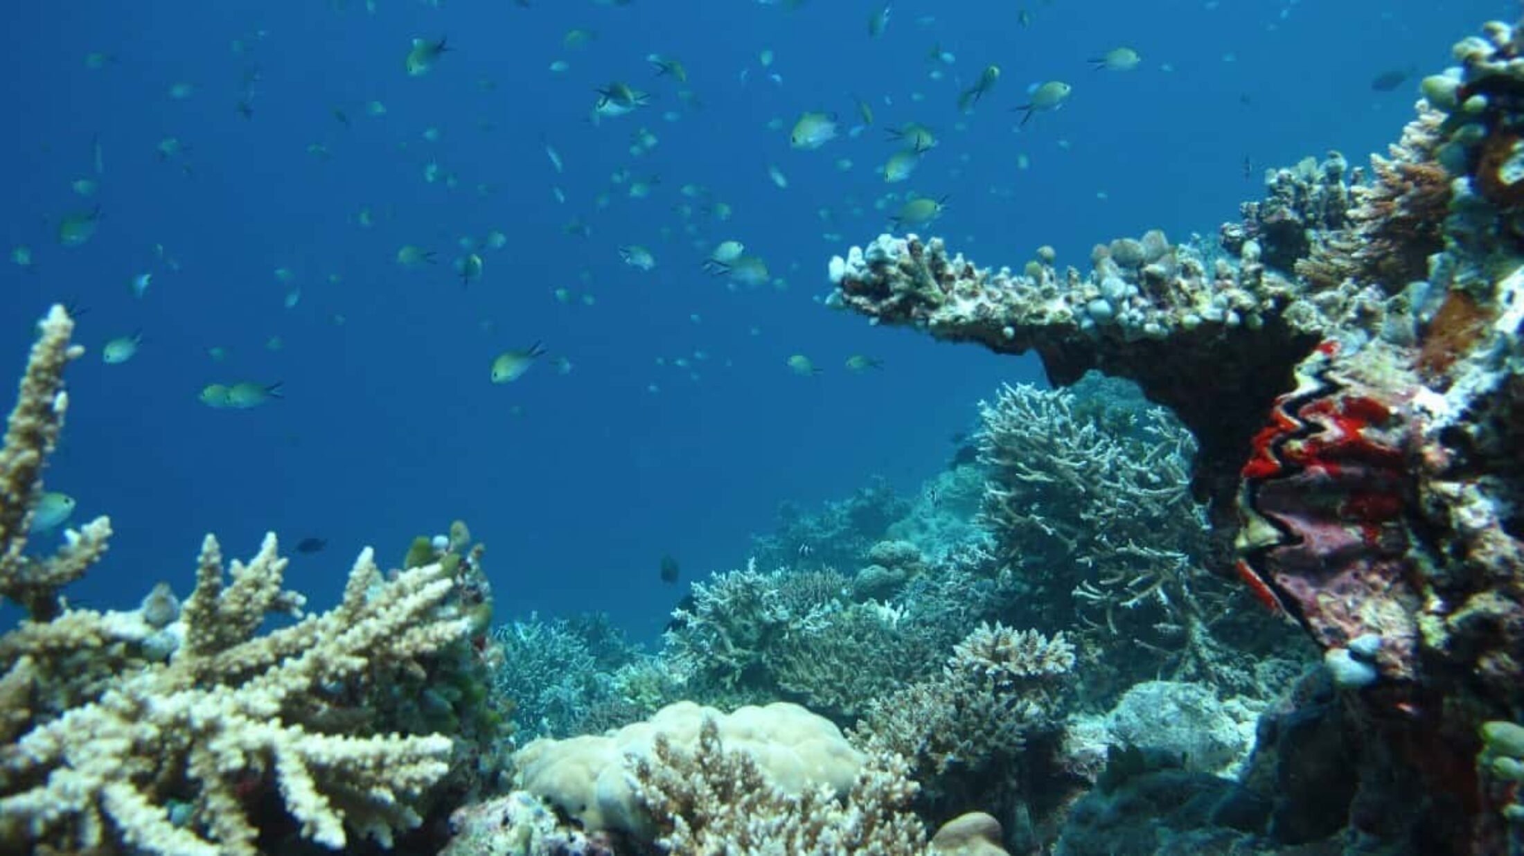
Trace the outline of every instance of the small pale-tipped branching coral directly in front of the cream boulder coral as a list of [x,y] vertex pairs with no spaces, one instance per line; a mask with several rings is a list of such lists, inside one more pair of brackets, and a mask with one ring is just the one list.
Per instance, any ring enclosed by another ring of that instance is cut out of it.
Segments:
[[634,792],[672,853],[873,853],[920,856],[927,832],[907,809],[916,784],[893,754],[870,755],[838,800],[829,784],[777,787],[753,754],[730,749],[713,717],[686,751],[657,736],[629,762]]

